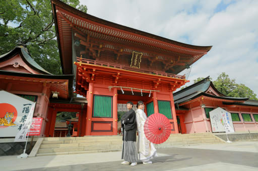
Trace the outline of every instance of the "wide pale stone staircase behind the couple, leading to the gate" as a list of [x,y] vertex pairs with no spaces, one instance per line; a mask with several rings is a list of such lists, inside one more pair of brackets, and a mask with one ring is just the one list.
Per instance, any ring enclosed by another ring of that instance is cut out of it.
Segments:
[[[212,133],[171,134],[166,142],[155,144],[156,148],[176,147],[202,143],[224,143]],[[122,137],[84,136],[84,137],[47,137],[42,141],[36,156],[76,154],[91,152],[120,151]]]

